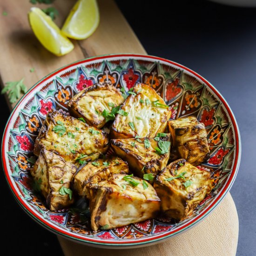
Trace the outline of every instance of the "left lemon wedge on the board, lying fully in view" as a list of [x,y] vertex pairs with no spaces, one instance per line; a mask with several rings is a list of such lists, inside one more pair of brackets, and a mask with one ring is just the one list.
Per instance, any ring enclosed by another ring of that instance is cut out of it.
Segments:
[[40,8],[32,7],[28,13],[28,20],[37,39],[51,53],[62,56],[74,49],[71,41]]

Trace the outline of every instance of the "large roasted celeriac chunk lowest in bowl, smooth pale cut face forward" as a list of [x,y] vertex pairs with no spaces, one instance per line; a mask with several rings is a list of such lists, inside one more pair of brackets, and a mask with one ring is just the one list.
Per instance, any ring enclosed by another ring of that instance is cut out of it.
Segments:
[[146,181],[114,174],[89,187],[91,226],[94,231],[114,229],[155,217],[160,199]]

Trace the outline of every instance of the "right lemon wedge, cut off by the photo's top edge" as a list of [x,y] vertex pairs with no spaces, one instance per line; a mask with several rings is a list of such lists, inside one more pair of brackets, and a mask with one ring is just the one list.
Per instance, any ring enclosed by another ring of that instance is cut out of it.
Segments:
[[94,33],[99,22],[100,14],[96,0],[78,0],[61,31],[73,39],[86,39]]

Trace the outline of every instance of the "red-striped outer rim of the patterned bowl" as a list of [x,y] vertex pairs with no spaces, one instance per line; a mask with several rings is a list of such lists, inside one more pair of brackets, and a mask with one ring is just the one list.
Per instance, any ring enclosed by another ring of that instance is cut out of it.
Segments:
[[[65,230],[60,229],[59,227],[56,227],[54,225],[52,225],[51,223],[45,221],[40,215],[36,215],[22,200],[22,198],[20,198],[18,192],[16,191],[16,189],[14,188],[12,182],[11,182],[11,177],[8,173],[8,168],[7,168],[7,161],[5,158],[5,152],[4,152],[4,148],[5,148],[5,143],[6,143],[6,138],[7,138],[7,130],[10,124],[10,121],[14,115],[14,113],[16,111],[19,110],[19,106],[20,104],[26,100],[26,98],[28,96],[30,96],[31,94],[33,94],[34,90],[39,87],[41,85],[41,83],[43,83],[44,81],[46,81],[47,79],[53,77],[54,75],[64,71],[65,69],[69,68],[69,67],[73,67],[75,65],[80,65],[80,64],[84,64],[88,61],[97,61],[97,60],[108,60],[109,58],[118,58],[118,57],[137,57],[137,58],[142,58],[142,59],[149,59],[149,60],[154,60],[154,61],[163,61],[163,62],[167,62],[171,65],[174,65],[176,67],[180,67],[184,70],[186,70],[187,72],[195,75],[195,77],[199,78],[200,80],[202,80],[219,98],[219,100],[222,102],[222,104],[225,106],[225,108],[227,109],[228,113],[229,113],[229,117],[232,121],[232,125],[235,131],[235,141],[236,141],[236,156],[235,156],[235,161],[234,161],[234,166],[231,170],[231,174],[229,176],[229,179],[227,180],[226,184],[224,184],[222,190],[219,192],[219,195],[216,195],[216,198],[209,204],[209,206],[207,207],[206,210],[202,211],[202,213],[200,213],[198,216],[194,217],[191,219],[191,221],[185,223],[184,225],[182,225],[181,227],[175,229],[175,230],[170,230],[164,234],[160,234],[158,236],[154,236],[154,237],[148,237],[143,239],[142,241],[99,241],[99,240],[95,240],[94,238],[90,238],[90,237],[82,237],[81,236],[77,236],[76,234],[72,234],[72,233],[67,233]],[[42,78],[40,81],[38,81],[36,84],[34,84],[34,86],[32,88],[30,88],[27,93],[25,95],[23,95],[23,97],[20,99],[20,101],[18,101],[18,103],[15,105],[15,107],[13,108],[13,111],[11,112],[5,130],[4,130],[4,134],[3,134],[3,138],[2,138],[2,145],[1,145],[1,155],[2,155],[2,165],[3,165],[3,169],[4,169],[4,173],[9,185],[9,188],[11,189],[13,196],[15,197],[15,199],[17,200],[17,202],[19,203],[19,205],[21,206],[21,208],[23,210],[25,210],[25,212],[31,216],[36,222],[38,222],[40,225],[42,225],[43,227],[49,229],[50,231],[54,232],[55,234],[64,236],[66,238],[69,239],[73,239],[76,240],[77,242],[84,242],[87,243],[88,245],[92,245],[92,246],[98,246],[98,247],[103,247],[103,248],[109,248],[109,247],[126,247],[126,248],[131,248],[131,247],[141,247],[141,246],[146,246],[146,245],[152,245],[152,243],[157,243],[157,242],[162,242],[163,240],[166,240],[167,238],[171,237],[171,236],[177,236],[179,234],[181,234],[184,231],[187,231],[188,229],[192,228],[193,226],[195,226],[196,224],[198,224],[199,222],[201,222],[204,218],[206,218],[207,216],[209,216],[210,213],[213,212],[214,209],[216,209],[216,206],[219,205],[219,203],[223,200],[223,198],[225,197],[225,195],[227,195],[227,193],[229,192],[229,190],[231,189],[235,179],[236,179],[236,175],[238,172],[238,168],[239,168],[239,164],[240,164],[240,159],[241,159],[241,137],[240,137],[240,133],[239,133],[239,128],[236,122],[236,118],[231,110],[231,108],[229,107],[229,104],[227,103],[227,101],[223,98],[222,94],[219,93],[219,91],[206,79],[204,79],[201,75],[197,74],[196,72],[194,72],[193,70],[189,69],[188,67],[185,67],[181,64],[178,64],[174,61],[169,61],[167,59],[161,58],[161,57],[156,57],[156,56],[152,56],[152,55],[143,55],[143,54],[104,54],[104,55],[99,55],[99,56],[94,56],[94,57],[90,57],[90,58],[86,58],[86,59],[82,59],[80,61],[75,61],[67,66],[61,67],[57,70],[55,70],[54,72],[52,72],[51,74],[48,74],[47,76],[45,76],[44,78]]]

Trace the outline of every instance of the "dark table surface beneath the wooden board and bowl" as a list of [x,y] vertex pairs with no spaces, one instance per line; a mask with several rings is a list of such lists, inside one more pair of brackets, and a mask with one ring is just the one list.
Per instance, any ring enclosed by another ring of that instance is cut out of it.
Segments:
[[[256,255],[256,8],[228,7],[205,0],[169,1],[168,6],[162,0],[154,4],[116,2],[148,54],[201,74],[233,110],[242,136],[241,165],[230,191],[239,216],[236,255]],[[2,134],[10,114],[3,96],[0,109]],[[56,236],[20,209],[1,174],[2,255],[62,255]],[[22,236],[29,238],[27,243],[19,240]]]

